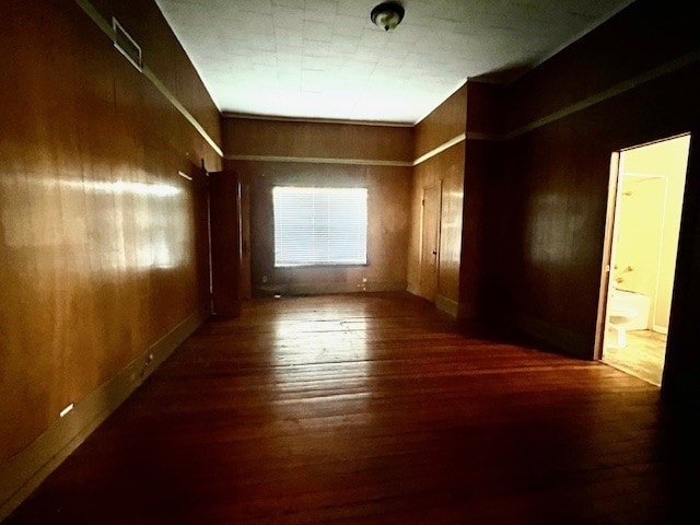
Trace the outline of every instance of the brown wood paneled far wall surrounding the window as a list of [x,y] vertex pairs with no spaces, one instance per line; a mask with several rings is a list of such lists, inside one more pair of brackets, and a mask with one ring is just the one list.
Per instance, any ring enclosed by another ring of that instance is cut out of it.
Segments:
[[[243,222],[249,230],[244,265],[249,245],[250,266],[243,273],[250,275],[253,295],[406,290],[411,168],[404,164],[411,161],[411,128],[224,117],[222,131],[225,168],[237,174],[249,200]],[[235,160],[238,154],[260,160]],[[278,158],[288,161],[269,160]],[[368,265],[275,268],[278,185],[368,187]]]

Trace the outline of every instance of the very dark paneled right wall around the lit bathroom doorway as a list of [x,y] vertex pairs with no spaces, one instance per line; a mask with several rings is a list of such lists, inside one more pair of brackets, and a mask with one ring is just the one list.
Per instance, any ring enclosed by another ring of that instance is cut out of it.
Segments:
[[[634,2],[508,86],[506,133],[485,189],[491,317],[593,357],[610,155],[697,129],[697,20],[693,7]],[[681,253],[693,242],[687,217]],[[676,340],[667,362],[689,345]]]

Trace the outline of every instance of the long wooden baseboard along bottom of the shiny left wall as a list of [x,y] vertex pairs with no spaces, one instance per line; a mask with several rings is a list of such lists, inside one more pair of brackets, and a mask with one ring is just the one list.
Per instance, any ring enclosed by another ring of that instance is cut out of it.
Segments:
[[0,466],[0,522],[8,517],[207,318],[196,312],[77,402],[22,452]]

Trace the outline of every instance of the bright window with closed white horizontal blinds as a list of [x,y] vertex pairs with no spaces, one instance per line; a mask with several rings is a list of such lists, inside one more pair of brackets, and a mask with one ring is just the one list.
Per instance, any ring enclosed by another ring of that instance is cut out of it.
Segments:
[[275,266],[366,265],[366,188],[272,188]]

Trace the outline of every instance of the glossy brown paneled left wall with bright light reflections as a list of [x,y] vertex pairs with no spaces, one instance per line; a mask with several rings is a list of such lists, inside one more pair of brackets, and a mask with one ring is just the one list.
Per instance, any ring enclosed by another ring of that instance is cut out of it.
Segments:
[[[155,4],[96,4],[218,137],[215,107]],[[221,160],[77,2],[2,2],[0,20],[1,466],[201,315],[200,164]]]

